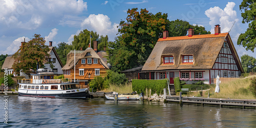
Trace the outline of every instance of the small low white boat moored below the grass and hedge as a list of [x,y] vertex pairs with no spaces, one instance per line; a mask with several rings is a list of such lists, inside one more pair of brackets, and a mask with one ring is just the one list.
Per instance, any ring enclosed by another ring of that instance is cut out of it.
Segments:
[[117,94],[114,97],[114,94],[106,94],[105,98],[108,100],[143,100],[143,97],[138,94]]

